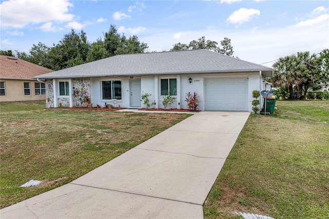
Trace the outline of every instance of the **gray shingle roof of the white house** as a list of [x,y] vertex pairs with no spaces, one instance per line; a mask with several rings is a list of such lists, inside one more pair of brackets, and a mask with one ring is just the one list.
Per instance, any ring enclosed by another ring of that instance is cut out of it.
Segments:
[[53,71],[34,78],[128,77],[260,70],[267,74],[272,72],[272,69],[266,66],[201,49],[124,54]]

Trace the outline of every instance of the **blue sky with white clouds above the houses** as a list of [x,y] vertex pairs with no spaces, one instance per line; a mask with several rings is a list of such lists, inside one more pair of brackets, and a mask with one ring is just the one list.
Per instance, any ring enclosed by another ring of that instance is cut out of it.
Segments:
[[29,52],[57,44],[74,28],[90,42],[111,24],[137,35],[148,51],[169,51],[205,36],[231,39],[234,56],[271,66],[299,51],[329,48],[328,1],[0,1],[2,50]]

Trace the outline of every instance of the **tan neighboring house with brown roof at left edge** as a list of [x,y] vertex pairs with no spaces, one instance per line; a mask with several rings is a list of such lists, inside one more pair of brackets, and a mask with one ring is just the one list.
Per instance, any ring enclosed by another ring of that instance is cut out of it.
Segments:
[[45,83],[33,77],[51,71],[19,58],[0,56],[0,101],[46,100]]

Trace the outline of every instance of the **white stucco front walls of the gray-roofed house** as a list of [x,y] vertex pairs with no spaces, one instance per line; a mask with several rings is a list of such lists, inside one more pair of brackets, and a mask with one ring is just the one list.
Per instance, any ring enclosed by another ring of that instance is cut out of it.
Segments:
[[[183,74],[183,75],[159,75],[159,76],[141,76],[141,93],[151,94],[150,101],[156,101],[156,108],[163,108],[161,100],[161,87],[160,80],[168,78],[177,79],[177,96],[176,101],[169,108],[188,108],[187,103],[185,102],[185,97],[188,92],[192,95],[194,92],[198,94],[199,97],[199,109],[205,109],[205,79],[206,78],[215,78],[215,77],[245,77],[248,79],[248,111],[252,112],[251,102],[252,90],[263,90],[265,88],[264,78],[260,75],[259,71],[255,72],[236,72],[236,73],[217,73],[217,74]],[[134,79],[139,77],[134,77]],[[189,78],[192,79],[192,82],[189,82]],[[71,79],[65,79],[69,81],[70,84],[70,95],[72,93],[72,83]],[[53,80],[54,82],[54,95],[59,95],[59,81],[65,80]],[[120,104],[121,107],[130,107],[130,98],[131,98],[131,88],[130,88],[130,77],[118,77],[118,78],[90,78],[91,86],[91,100],[93,106],[95,107],[99,104],[101,107],[104,107],[105,102],[107,104],[112,104],[112,100],[102,100],[102,87],[101,81],[103,80],[121,80],[121,95],[122,100],[117,100],[117,105]],[[59,97],[54,98],[54,107],[58,107]],[[261,99],[261,98],[260,98]],[[70,101],[72,98],[70,97]],[[261,100],[262,101],[262,100]],[[69,104],[72,106],[72,104]],[[143,106],[142,106],[143,107]],[[154,106],[153,106],[154,107]]]

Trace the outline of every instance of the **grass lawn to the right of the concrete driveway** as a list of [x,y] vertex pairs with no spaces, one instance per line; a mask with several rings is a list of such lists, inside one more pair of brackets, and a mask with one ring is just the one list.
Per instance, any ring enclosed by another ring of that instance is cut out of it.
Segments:
[[329,218],[329,101],[277,107],[273,115],[250,115],[206,200],[205,218]]

